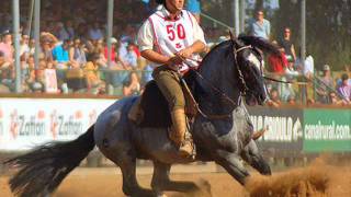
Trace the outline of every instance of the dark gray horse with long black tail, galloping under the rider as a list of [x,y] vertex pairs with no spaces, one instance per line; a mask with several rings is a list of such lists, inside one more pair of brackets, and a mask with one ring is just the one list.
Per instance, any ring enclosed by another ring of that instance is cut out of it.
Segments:
[[[245,97],[249,105],[263,104],[267,99],[258,48],[278,53],[265,40],[241,36],[216,46],[194,77],[194,94],[203,112],[195,117],[191,129],[196,161],[216,162],[240,184],[249,176],[241,159],[261,174],[271,174],[252,139],[252,124],[241,102]],[[127,114],[135,101],[136,97],[127,97],[115,102],[73,141],[45,144],[8,161],[8,164],[21,167],[10,181],[11,189],[23,196],[53,193],[95,146],[121,167],[125,195],[157,196],[163,190],[195,188],[196,185],[190,182],[170,181],[172,164],[194,160],[178,155],[166,128],[140,128],[132,123]],[[152,189],[139,187],[135,173],[137,159],[154,161]]]

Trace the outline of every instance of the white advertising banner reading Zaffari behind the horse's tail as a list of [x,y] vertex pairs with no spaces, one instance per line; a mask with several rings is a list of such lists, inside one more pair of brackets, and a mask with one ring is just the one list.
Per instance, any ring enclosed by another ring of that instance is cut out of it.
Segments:
[[76,139],[113,100],[0,99],[0,151]]

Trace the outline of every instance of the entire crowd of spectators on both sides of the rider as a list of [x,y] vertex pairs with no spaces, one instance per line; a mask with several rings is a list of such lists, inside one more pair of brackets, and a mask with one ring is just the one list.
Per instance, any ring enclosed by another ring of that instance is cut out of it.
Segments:
[[[200,21],[199,0],[190,7]],[[190,1],[189,1],[190,2]],[[21,12],[26,13],[29,2],[21,1]],[[21,19],[21,88],[23,92],[47,92],[49,76],[47,70],[56,73],[54,92],[88,92],[93,94],[133,95],[143,92],[144,84],[151,80],[151,68],[140,57],[136,46],[136,33],[139,24],[150,14],[156,4],[117,0],[114,9],[114,28],[111,65],[107,65],[106,46],[106,3],[94,0],[42,1],[41,39],[33,38],[27,19]],[[44,8],[44,9],[43,9]],[[135,11],[138,14],[135,14]],[[75,13],[72,15],[72,13]],[[11,31],[11,4],[4,2],[0,8],[0,92],[14,90],[13,38]],[[280,47],[281,56],[265,57],[267,72],[280,80],[294,80],[303,77],[306,82],[319,82],[315,86],[316,96],[310,103],[351,104],[349,77],[343,73],[339,80],[331,77],[331,68],[326,65],[321,77],[315,73],[314,58],[307,54],[302,62],[292,40],[292,30],[285,27],[282,35],[273,38],[270,21],[259,10],[249,21],[248,34],[269,39]],[[206,27],[208,44],[216,44],[226,37],[220,36],[219,28]],[[219,38],[219,39],[218,39]],[[39,42],[39,61],[35,66],[35,43]],[[304,65],[304,66],[303,66]],[[53,80],[52,80],[53,81]],[[308,83],[313,84],[313,83]],[[297,86],[301,88],[301,86]],[[301,95],[293,84],[268,83],[271,94],[269,105],[282,103],[295,104]],[[307,91],[306,91],[307,93]]]

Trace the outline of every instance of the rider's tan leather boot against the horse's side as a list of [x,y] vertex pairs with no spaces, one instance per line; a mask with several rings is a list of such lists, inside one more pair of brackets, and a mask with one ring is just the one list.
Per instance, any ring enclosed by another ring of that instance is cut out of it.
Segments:
[[179,154],[184,158],[193,157],[193,142],[190,138],[185,138],[186,134],[186,116],[184,109],[176,109],[171,113],[172,129],[169,137],[179,148]]

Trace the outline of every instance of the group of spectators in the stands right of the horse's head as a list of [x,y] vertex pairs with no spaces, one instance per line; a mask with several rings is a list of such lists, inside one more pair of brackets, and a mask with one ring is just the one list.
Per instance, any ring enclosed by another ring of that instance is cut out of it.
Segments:
[[[279,80],[292,81],[299,79],[305,81],[303,89],[299,88],[299,93],[304,93],[308,99],[307,104],[333,104],[333,105],[351,105],[351,80],[349,79],[349,68],[341,74],[341,78],[332,78],[331,68],[329,65],[324,65],[321,74],[315,73],[315,61],[308,51],[304,62],[301,56],[296,55],[295,46],[292,40],[292,30],[284,27],[282,36],[276,38],[271,36],[270,21],[264,19],[264,12],[258,10],[256,18],[249,21],[248,34],[262,37],[271,40],[279,47],[281,54],[269,55],[267,57],[268,66],[265,70]],[[316,96],[310,94],[307,89],[314,90]],[[279,107],[283,102],[295,104],[297,95],[293,84],[269,83],[268,84],[270,106]]]

